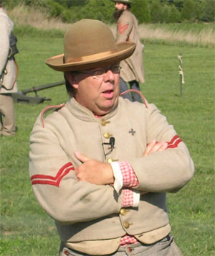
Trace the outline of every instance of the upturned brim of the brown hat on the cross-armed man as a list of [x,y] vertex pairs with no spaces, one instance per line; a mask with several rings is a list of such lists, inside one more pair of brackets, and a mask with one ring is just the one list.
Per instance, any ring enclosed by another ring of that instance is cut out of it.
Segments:
[[83,60],[72,61],[70,63],[64,63],[64,54],[60,54],[47,59],[45,63],[50,68],[62,72],[86,70],[103,65],[119,63],[121,60],[130,57],[134,50],[134,42],[119,42],[116,44],[116,51],[113,53],[104,52],[103,54],[90,55],[87,56],[87,58],[83,58]]

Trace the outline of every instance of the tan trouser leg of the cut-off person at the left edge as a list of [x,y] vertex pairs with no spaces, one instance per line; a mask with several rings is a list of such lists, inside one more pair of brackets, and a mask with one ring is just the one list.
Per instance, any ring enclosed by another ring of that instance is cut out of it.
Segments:
[[15,134],[14,100],[11,93],[0,94],[1,134],[12,136]]

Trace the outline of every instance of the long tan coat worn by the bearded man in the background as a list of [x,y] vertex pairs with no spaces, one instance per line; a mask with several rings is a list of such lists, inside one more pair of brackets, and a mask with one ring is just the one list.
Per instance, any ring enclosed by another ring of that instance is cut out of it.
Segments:
[[136,80],[144,83],[143,44],[138,35],[138,20],[132,12],[125,10],[118,19],[116,42],[135,42],[133,55],[120,62],[120,76],[125,82]]

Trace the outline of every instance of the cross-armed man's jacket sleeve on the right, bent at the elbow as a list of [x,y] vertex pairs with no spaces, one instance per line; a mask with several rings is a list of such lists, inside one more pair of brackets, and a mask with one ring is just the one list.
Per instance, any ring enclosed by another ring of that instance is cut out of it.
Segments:
[[148,142],[166,141],[168,148],[130,161],[138,178],[137,189],[155,193],[178,191],[194,175],[188,149],[155,105],[150,104],[146,110],[145,122]]

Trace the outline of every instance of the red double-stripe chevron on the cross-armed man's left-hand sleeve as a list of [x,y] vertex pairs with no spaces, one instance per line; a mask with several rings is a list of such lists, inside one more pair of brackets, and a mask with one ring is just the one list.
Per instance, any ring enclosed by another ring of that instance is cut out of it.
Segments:
[[70,173],[70,170],[75,170],[72,163],[67,163],[62,166],[62,168],[59,169],[56,176],[51,175],[44,175],[44,174],[36,174],[32,175],[32,185],[35,184],[44,184],[44,185],[52,185],[59,187],[59,183],[61,182],[62,178],[65,177],[68,173]]

